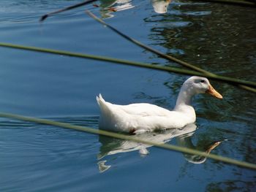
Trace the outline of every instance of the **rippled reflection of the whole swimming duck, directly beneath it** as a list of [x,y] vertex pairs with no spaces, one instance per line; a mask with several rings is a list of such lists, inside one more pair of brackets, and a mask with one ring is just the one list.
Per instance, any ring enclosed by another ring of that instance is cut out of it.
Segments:
[[[163,144],[170,142],[171,139],[176,138],[177,145],[181,147],[188,147],[195,150],[203,150],[206,153],[211,153],[221,142],[213,142],[207,146],[194,145],[192,143],[192,135],[195,133],[197,126],[195,123],[190,123],[184,128],[168,129],[161,132],[146,132],[143,134],[131,135],[129,137],[135,137],[138,139],[143,139],[151,142],[157,142]],[[148,147],[151,145],[145,145],[137,142],[130,142],[127,140],[115,139],[111,137],[105,137],[99,135],[99,142],[102,146],[99,148],[98,154],[98,166],[99,172],[105,172],[110,169],[111,165],[107,164],[107,160],[102,160],[108,155],[114,155],[117,153],[127,153],[131,151],[138,150],[141,156],[146,156],[149,154]],[[200,155],[189,155],[184,153],[184,158],[192,164],[202,164],[206,161],[206,157]]]

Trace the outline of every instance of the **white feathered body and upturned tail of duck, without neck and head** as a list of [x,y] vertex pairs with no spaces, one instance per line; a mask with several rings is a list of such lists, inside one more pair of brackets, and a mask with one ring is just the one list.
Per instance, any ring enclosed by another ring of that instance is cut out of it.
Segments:
[[[118,105],[105,101],[101,95],[97,99],[102,114],[99,128],[111,131],[144,132],[166,128],[181,128],[195,122],[195,110],[189,115],[170,111],[154,104]],[[179,119],[179,120],[177,120]]]

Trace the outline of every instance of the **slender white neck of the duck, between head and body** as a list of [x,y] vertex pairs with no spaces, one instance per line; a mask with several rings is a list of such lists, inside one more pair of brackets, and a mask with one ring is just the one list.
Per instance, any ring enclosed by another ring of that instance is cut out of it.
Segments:
[[[176,107],[174,108],[175,111],[184,111],[191,109],[192,107],[192,96],[194,96],[195,93],[192,91],[191,88],[187,88],[187,86],[182,86],[181,91],[178,93],[178,99],[176,101]],[[192,110],[194,111],[194,108],[192,107]]]

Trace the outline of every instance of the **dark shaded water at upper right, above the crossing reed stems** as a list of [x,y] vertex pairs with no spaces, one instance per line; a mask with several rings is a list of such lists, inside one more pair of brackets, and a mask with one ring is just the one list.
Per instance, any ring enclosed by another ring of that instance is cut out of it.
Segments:
[[171,4],[169,14],[145,18],[152,45],[209,72],[255,80],[251,70],[255,69],[255,9],[203,2]]

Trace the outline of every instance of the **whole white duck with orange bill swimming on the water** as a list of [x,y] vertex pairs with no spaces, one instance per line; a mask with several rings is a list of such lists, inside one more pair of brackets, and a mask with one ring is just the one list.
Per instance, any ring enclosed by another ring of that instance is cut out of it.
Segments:
[[190,77],[178,93],[174,110],[166,110],[154,104],[118,105],[105,101],[101,94],[97,102],[101,111],[99,128],[110,131],[123,131],[136,134],[145,131],[155,131],[167,128],[182,128],[195,122],[195,110],[192,107],[192,96],[198,93],[210,93],[222,99],[204,77]]

